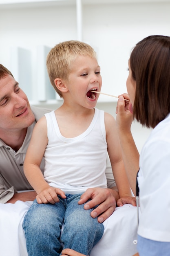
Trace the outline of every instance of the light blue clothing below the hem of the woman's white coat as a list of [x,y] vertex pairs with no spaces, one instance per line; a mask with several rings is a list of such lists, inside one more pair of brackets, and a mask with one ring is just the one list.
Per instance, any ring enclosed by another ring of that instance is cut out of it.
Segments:
[[137,251],[140,256],[170,256],[170,243],[137,236]]

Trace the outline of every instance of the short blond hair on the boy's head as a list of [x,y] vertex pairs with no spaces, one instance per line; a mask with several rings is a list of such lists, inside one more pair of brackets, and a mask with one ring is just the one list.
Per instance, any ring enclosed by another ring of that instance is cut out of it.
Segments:
[[65,41],[55,45],[46,58],[49,79],[60,97],[62,97],[62,93],[57,90],[54,80],[56,78],[68,80],[72,63],[78,55],[96,58],[96,52],[90,45],[76,40]]

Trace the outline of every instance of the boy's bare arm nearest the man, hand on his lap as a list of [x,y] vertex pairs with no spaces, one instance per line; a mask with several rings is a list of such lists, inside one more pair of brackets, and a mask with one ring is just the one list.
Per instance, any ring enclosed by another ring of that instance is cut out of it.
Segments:
[[24,173],[37,195],[38,203],[58,202],[57,194],[64,196],[60,189],[53,188],[44,180],[40,164],[48,144],[46,118],[42,117],[33,129],[31,141],[24,161]]

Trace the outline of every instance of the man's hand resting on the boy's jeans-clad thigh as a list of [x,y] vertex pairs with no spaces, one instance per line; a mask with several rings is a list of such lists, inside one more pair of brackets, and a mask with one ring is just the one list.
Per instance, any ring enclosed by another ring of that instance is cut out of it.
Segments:
[[90,188],[84,192],[79,200],[79,204],[84,204],[84,209],[88,210],[96,205],[99,206],[91,212],[91,217],[98,217],[98,222],[102,223],[106,220],[116,208],[116,200],[119,195],[116,190],[103,188]]

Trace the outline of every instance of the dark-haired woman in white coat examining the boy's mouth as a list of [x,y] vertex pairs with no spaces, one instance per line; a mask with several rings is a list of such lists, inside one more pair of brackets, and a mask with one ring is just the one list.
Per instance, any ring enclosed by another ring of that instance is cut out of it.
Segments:
[[[144,38],[132,50],[128,65],[128,94],[119,97],[116,121],[134,194],[139,170],[141,215],[137,248],[140,256],[169,256],[170,37]],[[124,98],[130,101],[127,103]],[[133,119],[153,128],[140,158],[130,132]]]

